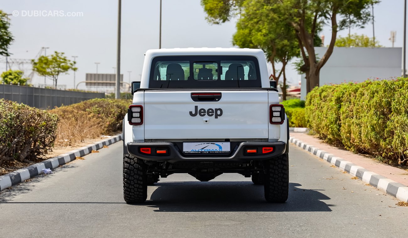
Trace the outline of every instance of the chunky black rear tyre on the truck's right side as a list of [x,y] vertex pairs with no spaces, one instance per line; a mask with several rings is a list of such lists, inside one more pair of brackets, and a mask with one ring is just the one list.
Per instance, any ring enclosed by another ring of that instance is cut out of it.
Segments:
[[271,203],[284,203],[289,191],[289,157],[283,154],[264,162],[265,199]]

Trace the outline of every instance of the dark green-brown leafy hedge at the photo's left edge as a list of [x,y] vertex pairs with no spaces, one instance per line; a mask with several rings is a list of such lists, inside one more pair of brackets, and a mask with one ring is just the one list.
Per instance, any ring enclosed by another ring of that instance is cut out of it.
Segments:
[[43,155],[53,146],[58,116],[0,99],[0,165]]

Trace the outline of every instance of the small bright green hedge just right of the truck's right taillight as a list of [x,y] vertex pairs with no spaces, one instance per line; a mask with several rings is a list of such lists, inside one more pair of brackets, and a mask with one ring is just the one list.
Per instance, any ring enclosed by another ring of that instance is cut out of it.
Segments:
[[289,127],[306,127],[305,101],[290,99],[282,102],[286,116],[289,118]]

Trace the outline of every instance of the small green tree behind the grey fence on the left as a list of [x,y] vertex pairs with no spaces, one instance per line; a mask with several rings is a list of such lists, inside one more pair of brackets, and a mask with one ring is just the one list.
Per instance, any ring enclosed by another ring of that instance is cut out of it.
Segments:
[[58,76],[60,74],[68,74],[69,70],[75,71],[78,69],[75,68],[75,62],[64,56],[64,52],[55,51],[53,55],[40,56],[37,61],[34,59],[31,61],[33,62],[33,71],[41,76],[52,79],[54,88],[57,87]]

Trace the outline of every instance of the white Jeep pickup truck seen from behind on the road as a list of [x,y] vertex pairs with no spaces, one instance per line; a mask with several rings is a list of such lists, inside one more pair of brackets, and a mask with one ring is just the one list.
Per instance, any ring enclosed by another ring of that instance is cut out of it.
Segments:
[[[139,88],[140,87],[140,88]],[[148,50],[123,123],[126,203],[174,173],[252,177],[268,202],[288,199],[288,120],[257,49]]]

